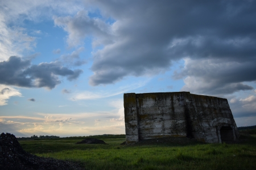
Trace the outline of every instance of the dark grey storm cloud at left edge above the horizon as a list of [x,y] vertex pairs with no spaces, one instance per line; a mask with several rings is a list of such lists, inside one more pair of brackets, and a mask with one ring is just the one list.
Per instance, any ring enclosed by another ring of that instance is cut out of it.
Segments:
[[82,73],[82,70],[70,70],[56,62],[31,66],[29,59],[23,60],[12,56],[8,61],[0,62],[0,73],[0,84],[52,89],[60,83],[59,75],[73,80]]

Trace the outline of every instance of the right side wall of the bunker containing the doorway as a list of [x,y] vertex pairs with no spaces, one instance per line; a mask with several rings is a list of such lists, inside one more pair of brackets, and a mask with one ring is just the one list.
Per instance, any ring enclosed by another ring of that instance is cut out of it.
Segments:
[[193,137],[207,143],[219,143],[222,126],[230,126],[236,137],[239,137],[227,99],[191,94],[188,100]]

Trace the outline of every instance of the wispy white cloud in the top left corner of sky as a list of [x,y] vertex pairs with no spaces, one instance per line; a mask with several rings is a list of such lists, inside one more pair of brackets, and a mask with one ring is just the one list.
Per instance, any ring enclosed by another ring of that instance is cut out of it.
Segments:
[[53,15],[75,14],[84,8],[81,1],[1,1],[0,6],[0,61],[10,56],[22,56],[31,52],[36,46],[36,37],[40,30],[17,27],[24,20],[40,22],[42,19],[51,20]]

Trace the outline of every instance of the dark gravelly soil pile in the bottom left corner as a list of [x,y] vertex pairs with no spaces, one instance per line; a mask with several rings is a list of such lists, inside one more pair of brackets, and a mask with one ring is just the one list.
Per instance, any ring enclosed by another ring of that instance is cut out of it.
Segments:
[[78,163],[42,158],[28,154],[22,149],[15,135],[0,135],[0,169],[83,169]]

